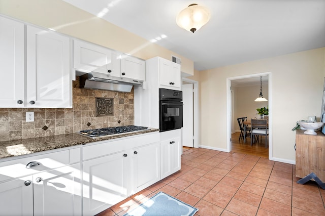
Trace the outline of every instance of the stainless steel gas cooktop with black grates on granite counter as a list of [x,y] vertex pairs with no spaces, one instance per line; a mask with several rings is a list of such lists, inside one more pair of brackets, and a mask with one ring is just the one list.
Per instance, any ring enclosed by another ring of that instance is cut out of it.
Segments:
[[134,133],[138,131],[146,131],[148,127],[143,126],[135,126],[135,125],[127,125],[127,126],[117,126],[117,127],[105,127],[99,129],[88,129],[84,131],[80,131],[80,135],[86,136],[88,138],[96,139],[103,138],[117,134],[126,134],[126,133]]

